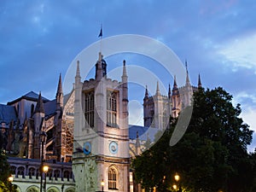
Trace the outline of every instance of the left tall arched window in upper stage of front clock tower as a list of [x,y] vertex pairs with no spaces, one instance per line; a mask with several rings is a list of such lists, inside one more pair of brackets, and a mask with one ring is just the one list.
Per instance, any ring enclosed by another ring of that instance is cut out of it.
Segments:
[[84,94],[84,117],[91,128],[94,127],[94,91]]

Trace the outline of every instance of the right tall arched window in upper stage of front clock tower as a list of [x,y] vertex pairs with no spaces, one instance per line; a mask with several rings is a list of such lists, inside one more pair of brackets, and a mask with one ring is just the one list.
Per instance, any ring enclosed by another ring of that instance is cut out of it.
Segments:
[[107,126],[118,127],[117,93],[110,90],[107,92]]

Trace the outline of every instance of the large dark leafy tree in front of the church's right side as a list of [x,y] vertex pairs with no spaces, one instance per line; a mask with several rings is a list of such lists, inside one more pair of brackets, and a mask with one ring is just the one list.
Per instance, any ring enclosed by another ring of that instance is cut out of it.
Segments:
[[252,190],[255,173],[247,145],[252,142],[253,131],[240,113],[240,105],[234,107],[232,96],[222,88],[198,90],[183,138],[169,146],[176,122],[172,119],[163,137],[134,160],[137,181],[143,181],[146,189],[155,186],[165,191],[172,189],[173,176],[178,172],[181,179],[177,184],[192,192]]

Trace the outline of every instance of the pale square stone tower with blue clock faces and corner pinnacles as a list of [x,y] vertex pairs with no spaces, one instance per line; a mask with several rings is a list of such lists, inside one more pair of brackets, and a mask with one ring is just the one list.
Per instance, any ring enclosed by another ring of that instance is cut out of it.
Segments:
[[99,53],[95,79],[75,77],[73,174],[76,191],[129,191],[128,85],[107,78]]

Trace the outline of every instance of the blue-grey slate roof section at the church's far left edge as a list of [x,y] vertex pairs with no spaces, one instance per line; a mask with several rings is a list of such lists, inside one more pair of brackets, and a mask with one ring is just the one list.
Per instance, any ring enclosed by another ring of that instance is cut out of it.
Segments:
[[0,123],[4,122],[9,124],[11,120],[16,120],[17,114],[15,107],[9,105],[0,104]]

